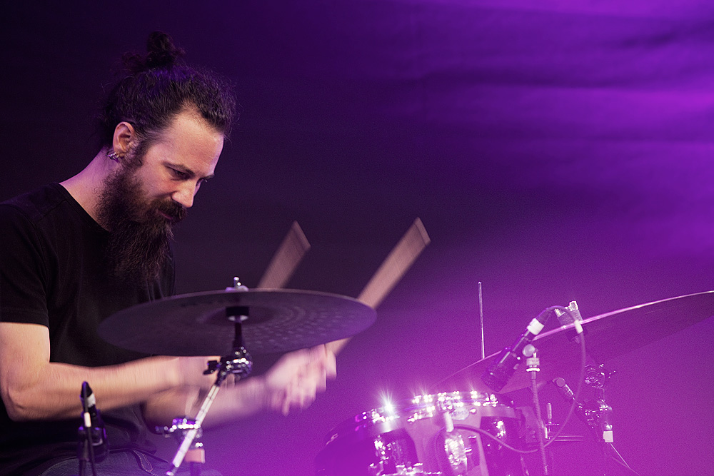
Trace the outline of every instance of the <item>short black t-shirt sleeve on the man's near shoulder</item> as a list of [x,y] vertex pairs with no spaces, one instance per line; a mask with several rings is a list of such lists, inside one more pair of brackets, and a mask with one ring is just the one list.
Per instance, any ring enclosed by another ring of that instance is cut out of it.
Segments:
[[41,324],[47,313],[46,248],[15,206],[0,205],[0,322]]

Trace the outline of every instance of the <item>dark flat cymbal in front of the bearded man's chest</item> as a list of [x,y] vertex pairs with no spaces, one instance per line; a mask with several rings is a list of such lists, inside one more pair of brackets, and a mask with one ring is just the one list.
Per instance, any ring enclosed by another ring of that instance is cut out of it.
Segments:
[[226,316],[236,313],[247,315],[242,335],[251,354],[288,352],[346,338],[376,319],[373,308],[342,295],[228,289],[135,305],[104,320],[98,332],[111,344],[141,353],[227,355],[233,350],[235,323]]

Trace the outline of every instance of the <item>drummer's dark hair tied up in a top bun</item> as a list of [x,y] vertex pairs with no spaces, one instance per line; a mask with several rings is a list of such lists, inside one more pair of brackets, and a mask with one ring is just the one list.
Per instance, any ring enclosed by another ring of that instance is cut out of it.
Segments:
[[127,76],[111,89],[99,115],[101,146],[111,146],[114,128],[126,121],[139,136],[139,148],[145,149],[187,108],[198,111],[227,138],[236,108],[228,82],[212,71],[185,64],[183,49],[161,31],[149,35],[146,50],[145,56],[124,54],[122,58]]

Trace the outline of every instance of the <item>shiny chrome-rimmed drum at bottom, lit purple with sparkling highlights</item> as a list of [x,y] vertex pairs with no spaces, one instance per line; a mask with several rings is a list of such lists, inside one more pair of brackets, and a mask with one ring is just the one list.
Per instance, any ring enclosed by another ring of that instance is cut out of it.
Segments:
[[476,431],[520,449],[520,421],[498,395],[418,395],[335,427],[316,457],[317,475],[523,476],[516,452]]

